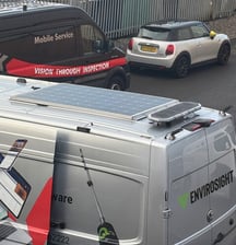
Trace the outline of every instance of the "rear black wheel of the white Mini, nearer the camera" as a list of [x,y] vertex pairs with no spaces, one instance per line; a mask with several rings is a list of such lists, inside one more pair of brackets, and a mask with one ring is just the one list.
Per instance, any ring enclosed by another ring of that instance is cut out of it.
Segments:
[[190,60],[187,56],[180,56],[177,58],[174,65],[174,75],[178,79],[185,78],[188,75],[190,68]]

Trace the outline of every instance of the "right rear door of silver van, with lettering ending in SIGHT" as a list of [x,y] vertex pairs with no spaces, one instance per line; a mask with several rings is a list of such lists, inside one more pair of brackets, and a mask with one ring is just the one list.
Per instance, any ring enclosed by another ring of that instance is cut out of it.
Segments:
[[236,241],[236,170],[235,131],[229,119],[205,129],[209,147],[210,197],[209,221],[212,243],[235,245]]

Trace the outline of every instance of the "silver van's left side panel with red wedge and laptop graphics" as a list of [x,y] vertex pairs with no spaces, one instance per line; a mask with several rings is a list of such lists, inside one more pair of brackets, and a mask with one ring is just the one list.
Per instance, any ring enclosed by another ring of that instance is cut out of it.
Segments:
[[[15,229],[1,237],[9,244],[44,244],[50,229],[56,131],[16,120],[0,119],[0,205],[8,210],[3,224]],[[19,155],[15,149],[21,148]],[[42,173],[42,167],[44,173]],[[1,221],[0,221],[1,228]],[[15,241],[14,241],[15,237]],[[13,241],[14,243],[13,243]]]

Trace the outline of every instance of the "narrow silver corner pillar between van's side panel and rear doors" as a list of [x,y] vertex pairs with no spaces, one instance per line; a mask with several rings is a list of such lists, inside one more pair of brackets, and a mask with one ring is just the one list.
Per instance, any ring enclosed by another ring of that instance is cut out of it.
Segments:
[[148,242],[146,244],[167,244],[168,218],[168,185],[167,166],[163,162],[167,161],[167,155],[163,144],[152,141],[149,182],[149,209],[148,209]]

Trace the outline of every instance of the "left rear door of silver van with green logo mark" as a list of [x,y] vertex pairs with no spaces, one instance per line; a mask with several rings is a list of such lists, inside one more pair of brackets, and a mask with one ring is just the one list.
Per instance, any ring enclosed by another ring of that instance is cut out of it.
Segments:
[[211,244],[206,220],[209,196],[201,186],[208,183],[208,147],[204,130],[176,139],[167,149],[169,191],[168,243]]

